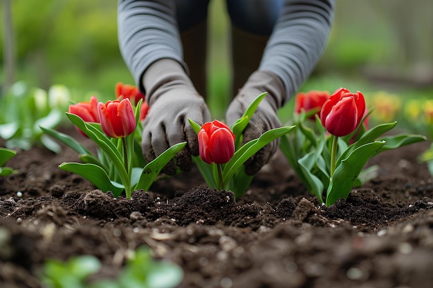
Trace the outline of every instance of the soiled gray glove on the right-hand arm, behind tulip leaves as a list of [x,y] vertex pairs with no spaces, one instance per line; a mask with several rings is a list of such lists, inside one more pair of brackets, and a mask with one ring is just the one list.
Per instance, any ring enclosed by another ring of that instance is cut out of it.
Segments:
[[[261,134],[270,129],[282,126],[277,115],[277,110],[284,104],[284,84],[279,77],[265,71],[255,71],[255,73],[252,73],[243,88],[239,90],[239,93],[234,97],[225,113],[227,123],[231,126],[236,122],[252,101],[264,92],[268,92],[268,95],[261,100],[248,126],[243,131],[243,144],[257,139]],[[245,172],[248,175],[257,173],[277,151],[278,145],[279,140],[275,140],[264,146],[264,148],[261,148],[245,163]]]

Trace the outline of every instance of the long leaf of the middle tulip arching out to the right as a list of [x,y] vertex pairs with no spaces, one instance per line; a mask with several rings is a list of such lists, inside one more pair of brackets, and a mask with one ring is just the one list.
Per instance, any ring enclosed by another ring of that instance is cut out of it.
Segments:
[[241,169],[243,163],[252,157],[252,155],[257,153],[257,151],[270,142],[273,142],[273,140],[290,133],[293,131],[293,129],[295,129],[295,126],[274,128],[263,133],[258,139],[251,140],[250,142],[241,146],[241,148],[234,153],[232,159],[230,159],[230,161],[224,165],[223,186],[227,186],[228,181],[239,169]]

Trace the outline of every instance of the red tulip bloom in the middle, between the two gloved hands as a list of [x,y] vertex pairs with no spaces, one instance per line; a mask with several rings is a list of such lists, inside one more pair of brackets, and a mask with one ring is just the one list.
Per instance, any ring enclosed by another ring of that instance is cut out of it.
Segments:
[[234,134],[223,122],[206,122],[198,138],[200,157],[208,164],[227,163],[234,154]]

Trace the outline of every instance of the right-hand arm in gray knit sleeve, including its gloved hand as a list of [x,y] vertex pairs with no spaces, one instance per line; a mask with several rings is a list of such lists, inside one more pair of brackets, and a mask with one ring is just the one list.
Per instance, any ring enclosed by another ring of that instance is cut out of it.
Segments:
[[[243,132],[243,142],[281,126],[277,110],[297,92],[322,56],[333,23],[334,0],[286,0],[260,66],[239,90],[225,117],[233,124],[252,101],[268,92]],[[257,152],[245,171],[257,173],[278,148],[275,140]]]

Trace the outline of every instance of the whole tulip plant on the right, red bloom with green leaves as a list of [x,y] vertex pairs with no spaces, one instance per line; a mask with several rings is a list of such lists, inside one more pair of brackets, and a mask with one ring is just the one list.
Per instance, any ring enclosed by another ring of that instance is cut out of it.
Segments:
[[362,93],[340,88],[320,105],[302,107],[294,114],[297,133],[282,137],[280,148],[293,170],[326,206],[347,198],[353,186],[374,176],[374,167],[363,169],[374,155],[426,140],[423,135],[383,136],[396,122],[367,130],[369,113]]

